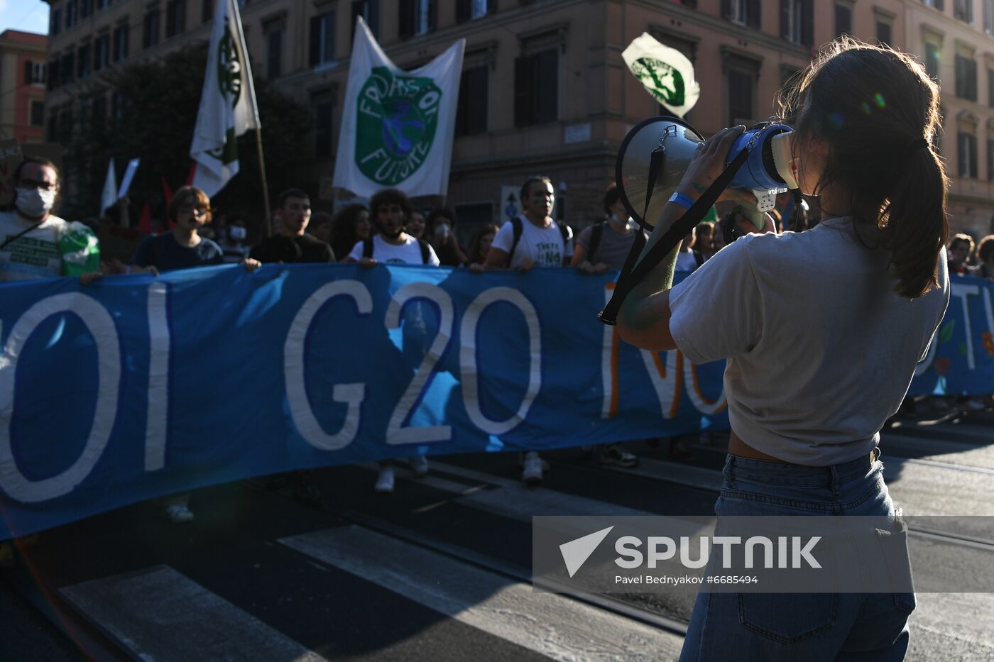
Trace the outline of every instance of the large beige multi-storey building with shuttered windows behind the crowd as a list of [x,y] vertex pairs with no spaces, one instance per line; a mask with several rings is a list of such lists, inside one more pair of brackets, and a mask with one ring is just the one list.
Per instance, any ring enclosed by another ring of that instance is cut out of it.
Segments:
[[[103,70],[206,41],[217,0],[48,0],[49,134]],[[256,75],[307,103],[317,129],[298,180],[329,201],[355,18],[414,69],[465,38],[448,200],[460,222],[500,220],[526,176],[550,176],[557,213],[600,218],[627,131],[660,112],[621,53],[643,32],[694,63],[687,119],[710,134],[762,119],[839,34],[915,54],[942,88],[952,223],[994,216],[994,0],[240,0]],[[101,105],[107,112],[108,105]],[[263,118],[263,123],[265,118]],[[65,122],[63,122],[65,124]],[[62,126],[61,130],[66,130]],[[263,128],[264,130],[264,128]]]

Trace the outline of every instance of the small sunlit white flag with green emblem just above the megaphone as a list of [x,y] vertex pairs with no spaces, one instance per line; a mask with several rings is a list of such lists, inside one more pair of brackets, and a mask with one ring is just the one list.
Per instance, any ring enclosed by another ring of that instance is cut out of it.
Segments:
[[639,83],[673,114],[683,117],[701,95],[694,65],[687,56],[643,32],[621,54]]

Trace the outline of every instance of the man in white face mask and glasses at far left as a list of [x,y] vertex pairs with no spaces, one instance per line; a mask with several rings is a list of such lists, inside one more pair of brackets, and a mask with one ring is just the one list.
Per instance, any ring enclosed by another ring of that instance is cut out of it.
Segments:
[[61,180],[48,159],[28,156],[14,170],[14,211],[0,212],[0,281],[99,273],[96,236],[52,214]]

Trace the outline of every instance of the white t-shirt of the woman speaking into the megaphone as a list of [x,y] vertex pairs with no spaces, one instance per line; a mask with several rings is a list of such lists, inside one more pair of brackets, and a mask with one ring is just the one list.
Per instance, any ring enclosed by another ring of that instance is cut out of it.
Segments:
[[894,292],[890,252],[865,248],[847,218],[803,233],[749,235],[670,291],[670,332],[701,364],[727,358],[732,429],[796,464],[866,456],[908,393],[949,302]]

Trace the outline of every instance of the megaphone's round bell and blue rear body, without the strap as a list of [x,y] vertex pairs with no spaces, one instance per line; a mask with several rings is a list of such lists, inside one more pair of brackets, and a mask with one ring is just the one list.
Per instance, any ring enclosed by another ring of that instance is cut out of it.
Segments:
[[[776,195],[797,188],[790,167],[792,131],[775,121],[757,124],[743,131],[729,150],[727,166],[743,150],[748,150],[745,163],[734,174],[730,187],[755,195],[759,213],[751,220],[759,230],[765,212],[775,205]],[[644,230],[651,232],[655,228],[703,140],[701,133],[683,119],[659,115],[636,124],[621,142],[615,181],[628,215]]]

